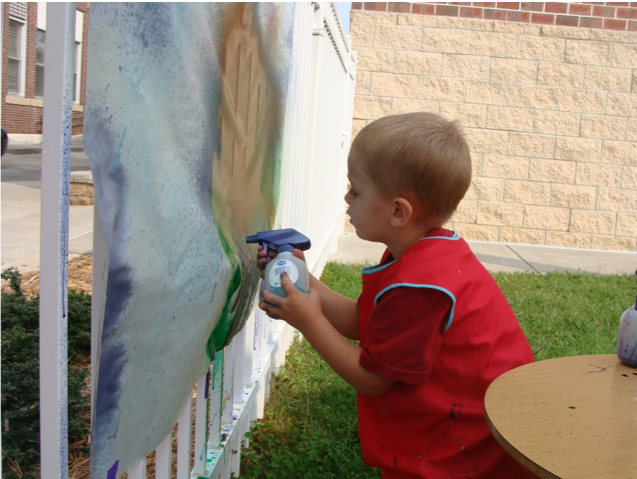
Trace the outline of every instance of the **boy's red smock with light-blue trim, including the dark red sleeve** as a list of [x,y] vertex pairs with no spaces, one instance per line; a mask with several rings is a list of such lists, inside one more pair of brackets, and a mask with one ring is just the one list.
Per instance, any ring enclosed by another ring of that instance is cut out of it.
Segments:
[[449,234],[363,270],[361,365],[398,381],[377,398],[358,394],[363,457],[384,478],[526,477],[491,436],[484,394],[533,355],[491,275]]

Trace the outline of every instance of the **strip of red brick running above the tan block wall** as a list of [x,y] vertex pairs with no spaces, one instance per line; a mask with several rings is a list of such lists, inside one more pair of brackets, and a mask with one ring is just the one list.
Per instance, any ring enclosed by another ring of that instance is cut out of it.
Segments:
[[353,2],[352,10],[637,31],[637,2]]

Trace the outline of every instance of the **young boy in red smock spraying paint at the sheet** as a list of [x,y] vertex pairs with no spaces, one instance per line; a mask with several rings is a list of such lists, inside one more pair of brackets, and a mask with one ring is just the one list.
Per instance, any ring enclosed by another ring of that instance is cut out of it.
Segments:
[[[261,309],[358,391],[363,457],[384,479],[527,477],[491,436],[484,395],[533,354],[491,275],[441,228],[471,182],[466,141],[438,115],[382,118],[354,140],[348,177],[356,234],[387,246],[358,301],[314,277],[303,294],[284,275],[287,297],[264,291]],[[259,251],[259,267],[269,259]]]

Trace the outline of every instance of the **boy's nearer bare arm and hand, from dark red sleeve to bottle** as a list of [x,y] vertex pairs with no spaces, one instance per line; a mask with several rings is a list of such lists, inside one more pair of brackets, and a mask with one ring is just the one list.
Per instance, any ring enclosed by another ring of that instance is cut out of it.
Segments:
[[[268,316],[283,319],[297,328],[334,371],[354,389],[368,396],[380,396],[396,383],[360,365],[361,348],[348,341],[325,317],[316,289],[309,294],[298,291],[284,273],[282,298],[265,290],[259,304]],[[333,293],[333,292],[332,292]],[[336,293],[333,293],[336,294]],[[352,301],[352,300],[350,300]]]

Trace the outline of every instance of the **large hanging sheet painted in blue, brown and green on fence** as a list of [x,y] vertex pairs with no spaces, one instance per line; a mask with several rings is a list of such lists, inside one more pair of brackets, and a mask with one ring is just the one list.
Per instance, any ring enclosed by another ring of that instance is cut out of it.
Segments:
[[243,238],[276,213],[293,8],[91,5],[84,145],[109,258],[95,479],[157,447],[254,306]]

